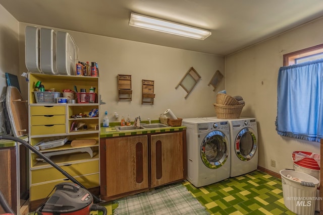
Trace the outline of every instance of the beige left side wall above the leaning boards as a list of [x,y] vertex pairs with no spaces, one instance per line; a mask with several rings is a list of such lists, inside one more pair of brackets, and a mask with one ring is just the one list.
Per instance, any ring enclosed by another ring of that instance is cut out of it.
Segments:
[[7,90],[5,73],[19,76],[18,26],[19,22],[0,5],[0,95]]

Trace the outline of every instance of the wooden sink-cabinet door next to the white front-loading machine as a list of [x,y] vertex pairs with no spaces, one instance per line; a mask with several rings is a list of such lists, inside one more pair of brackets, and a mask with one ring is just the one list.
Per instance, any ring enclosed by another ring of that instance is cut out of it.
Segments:
[[151,187],[184,178],[183,133],[151,135]]

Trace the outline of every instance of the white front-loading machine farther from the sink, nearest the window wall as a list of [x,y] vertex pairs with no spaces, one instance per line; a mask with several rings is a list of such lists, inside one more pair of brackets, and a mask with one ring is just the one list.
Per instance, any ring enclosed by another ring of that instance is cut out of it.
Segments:
[[230,126],[231,167],[230,177],[252,172],[258,168],[258,133],[255,118],[217,119],[228,120]]

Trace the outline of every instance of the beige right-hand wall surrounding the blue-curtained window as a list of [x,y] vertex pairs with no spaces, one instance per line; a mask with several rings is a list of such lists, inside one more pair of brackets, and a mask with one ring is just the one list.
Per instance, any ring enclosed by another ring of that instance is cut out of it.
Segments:
[[[322,44],[322,25],[323,19],[316,20],[226,57],[226,90],[244,98],[242,116],[256,117],[258,121],[259,166],[277,173],[293,169],[293,151],[320,153],[318,142],[278,135],[275,120],[277,77],[283,54]],[[271,159],[276,160],[276,168],[271,167]]]

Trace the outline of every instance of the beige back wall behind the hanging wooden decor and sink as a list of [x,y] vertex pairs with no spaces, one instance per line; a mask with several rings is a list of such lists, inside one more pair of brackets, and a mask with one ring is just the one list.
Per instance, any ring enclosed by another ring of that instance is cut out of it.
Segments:
[[[24,41],[26,23],[20,23],[20,39]],[[41,26],[40,26],[41,27]],[[58,30],[58,29],[56,29]],[[101,117],[109,112],[110,121],[115,121],[114,112],[125,118],[130,115],[142,120],[158,119],[160,113],[170,108],[181,118],[215,116],[213,103],[216,92],[207,86],[214,73],[219,69],[224,74],[224,57],[169,48],[128,40],[103,37],[80,32],[68,31],[79,48],[79,60],[96,61],[99,66]],[[23,50],[24,43],[20,43]],[[24,65],[24,51],[20,52],[21,71]],[[201,80],[185,99],[186,92],[177,84],[193,66]],[[118,74],[132,75],[132,101],[118,101]],[[153,105],[141,104],[142,79],[155,81]],[[224,89],[222,81],[219,89]],[[46,86],[45,86],[46,87]]]

